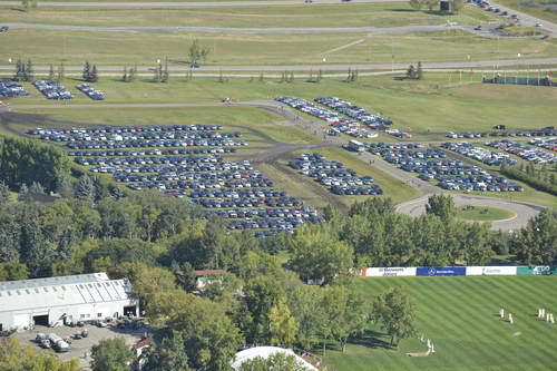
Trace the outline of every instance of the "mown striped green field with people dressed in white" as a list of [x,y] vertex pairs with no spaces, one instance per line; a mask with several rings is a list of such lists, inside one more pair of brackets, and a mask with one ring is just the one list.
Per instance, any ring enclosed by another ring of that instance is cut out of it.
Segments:
[[[368,277],[356,283],[370,301],[388,286],[404,287],[417,303],[419,334],[433,341],[436,353],[405,357],[427,350],[418,336],[402,341],[398,351],[365,338],[345,353],[329,351],[325,364],[335,371],[555,370],[557,324],[538,321],[537,309],[557,307],[557,276]],[[512,313],[515,324],[498,318],[500,307]]]

